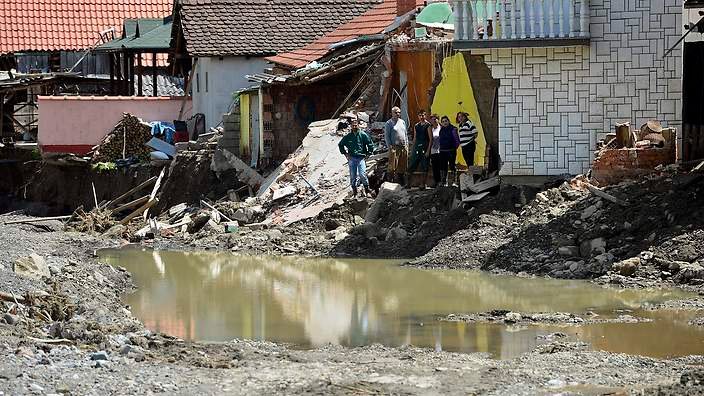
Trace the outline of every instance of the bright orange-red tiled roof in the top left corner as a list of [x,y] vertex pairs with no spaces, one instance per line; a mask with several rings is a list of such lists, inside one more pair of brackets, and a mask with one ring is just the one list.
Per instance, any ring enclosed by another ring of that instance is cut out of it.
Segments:
[[84,50],[125,18],[165,17],[172,0],[0,0],[0,54]]

